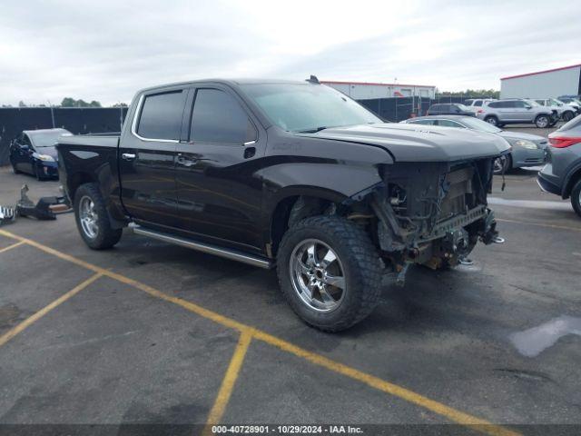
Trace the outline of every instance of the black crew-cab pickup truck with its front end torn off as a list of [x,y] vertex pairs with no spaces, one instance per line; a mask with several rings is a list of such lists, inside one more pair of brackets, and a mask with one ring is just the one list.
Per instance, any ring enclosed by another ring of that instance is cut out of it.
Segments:
[[369,315],[410,264],[454,266],[494,242],[487,193],[510,151],[497,135],[384,123],[316,77],[145,89],[121,136],[57,148],[89,247],[129,226],[276,266],[292,309],[327,332]]

